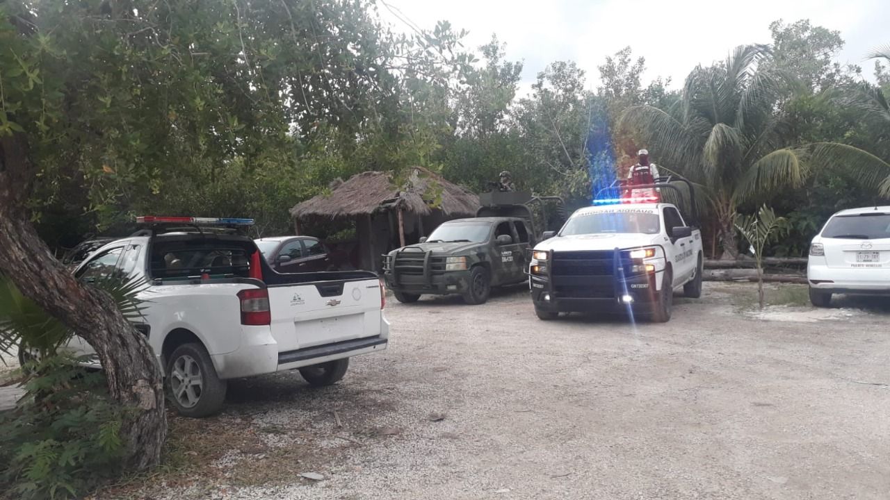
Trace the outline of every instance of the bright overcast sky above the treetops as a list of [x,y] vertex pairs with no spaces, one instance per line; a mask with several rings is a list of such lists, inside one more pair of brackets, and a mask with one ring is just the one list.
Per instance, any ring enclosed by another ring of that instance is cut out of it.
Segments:
[[[653,77],[683,84],[697,64],[723,60],[740,44],[769,43],[769,24],[809,19],[837,29],[846,44],[843,63],[862,66],[872,78],[874,62],[864,55],[890,44],[890,0],[382,0],[395,12],[432,29],[449,20],[469,31],[465,45],[476,47],[497,34],[506,42],[508,60],[522,60],[522,92],[554,60],[574,60],[587,71],[589,85],[599,79],[597,66],[607,55],[630,45],[646,58],[643,85]],[[718,6],[720,5],[720,6]],[[724,7],[725,5],[725,7]],[[732,7],[731,7],[732,6]],[[393,27],[409,27],[379,4]]]

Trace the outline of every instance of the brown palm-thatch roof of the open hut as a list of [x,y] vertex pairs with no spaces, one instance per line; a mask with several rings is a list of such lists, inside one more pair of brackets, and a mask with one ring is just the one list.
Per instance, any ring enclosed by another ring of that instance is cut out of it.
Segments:
[[[353,217],[387,209],[427,215],[440,209],[450,217],[473,216],[479,197],[422,166],[412,166],[404,181],[392,173],[364,172],[331,186],[329,193],[291,208],[297,219]],[[397,185],[401,184],[401,185]]]

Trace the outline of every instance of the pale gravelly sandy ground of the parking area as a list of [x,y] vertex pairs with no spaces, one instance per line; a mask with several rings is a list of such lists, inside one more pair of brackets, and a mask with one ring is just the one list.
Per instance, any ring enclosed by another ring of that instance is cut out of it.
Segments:
[[[353,359],[335,387],[313,391],[294,373],[231,383],[227,409],[203,432],[255,432],[262,454],[234,449],[211,465],[212,477],[206,469],[130,493],[890,497],[890,306],[732,305],[753,293],[706,284],[699,301],[677,297],[669,323],[638,325],[542,322],[522,289],[480,306],[393,301],[389,350]],[[276,462],[287,456],[276,450],[294,449],[299,458]],[[284,480],[231,480],[257,464]]]

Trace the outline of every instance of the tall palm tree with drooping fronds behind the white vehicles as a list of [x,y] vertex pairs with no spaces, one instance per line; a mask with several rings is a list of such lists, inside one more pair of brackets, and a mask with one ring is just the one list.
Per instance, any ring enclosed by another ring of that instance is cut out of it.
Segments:
[[[619,122],[656,151],[659,166],[697,184],[724,258],[738,254],[733,222],[740,204],[800,187],[815,167],[844,165],[871,185],[890,175],[890,164],[862,149],[838,143],[790,145],[780,104],[795,83],[776,70],[758,69],[767,55],[765,45],[740,46],[722,63],[693,69],[680,101],[670,109],[634,106]],[[890,181],[882,194],[890,194]]]

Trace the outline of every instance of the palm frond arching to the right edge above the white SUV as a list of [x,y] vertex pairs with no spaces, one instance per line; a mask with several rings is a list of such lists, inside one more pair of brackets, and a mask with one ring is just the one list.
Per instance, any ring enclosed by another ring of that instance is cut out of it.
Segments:
[[890,164],[870,152],[839,142],[809,144],[808,163],[813,169],[849,175],[862,186],[878,188],[878,196],[890,198]]

